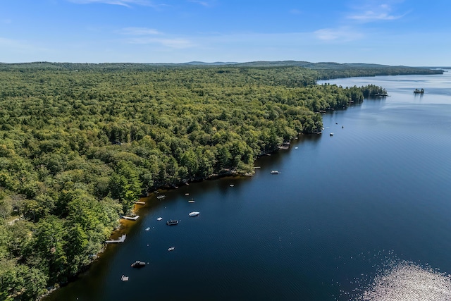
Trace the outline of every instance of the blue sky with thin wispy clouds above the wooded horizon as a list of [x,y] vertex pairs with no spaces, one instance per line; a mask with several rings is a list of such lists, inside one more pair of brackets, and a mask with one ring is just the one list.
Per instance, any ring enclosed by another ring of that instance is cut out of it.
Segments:
[[451,66],[450,0],[1,0],[0,62]]

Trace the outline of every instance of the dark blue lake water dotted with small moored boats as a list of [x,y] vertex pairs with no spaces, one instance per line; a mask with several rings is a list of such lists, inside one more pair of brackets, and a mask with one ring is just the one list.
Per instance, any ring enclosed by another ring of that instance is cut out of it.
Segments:
[[324,114],[252,178],[152,195],[46,300],[451,300],[451,72],[328,82],[389,97]]

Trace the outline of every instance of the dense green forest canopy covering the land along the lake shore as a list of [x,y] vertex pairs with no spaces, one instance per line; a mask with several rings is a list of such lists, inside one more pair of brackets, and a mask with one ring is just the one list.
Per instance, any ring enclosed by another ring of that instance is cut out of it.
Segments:
[[0,64],[0,299],[32,300],[78,274],[143,192],[252,175],[259,155],[321,132],[321,111],[386,93],[316,85],[374,75],[336,72]]

